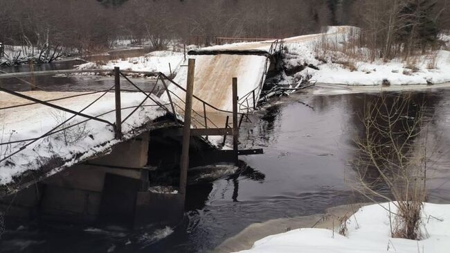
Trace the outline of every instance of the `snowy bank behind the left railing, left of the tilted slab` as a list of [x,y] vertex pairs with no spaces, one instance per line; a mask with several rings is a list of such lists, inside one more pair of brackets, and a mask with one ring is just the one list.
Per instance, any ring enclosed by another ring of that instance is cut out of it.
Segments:
[[[141,57],[127,58],[123,60],[110,60],[105,64],[87,62],[78,66],[78,69],[114,69],[120,67],[130,71],[162,72],[169,75],[176,72],[184,60],[183,53],[172,51],[154,51]],[[170,67],[169,67],[170,64]]]

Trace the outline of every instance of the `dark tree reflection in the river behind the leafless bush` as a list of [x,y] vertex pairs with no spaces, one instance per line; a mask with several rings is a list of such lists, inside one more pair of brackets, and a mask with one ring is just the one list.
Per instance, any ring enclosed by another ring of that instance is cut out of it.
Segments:
[[[357,129],[351,141],[356,150],[351,168],[357,175],[355,186],[361,186],[363,182],[388,198],[391,198],[392,191],[405,195],[402,192],[406,189],[406,178],[402,175],[408,173],[419,180],[414,181],[417,184],[408,184],[408,188],[424,187],[426,182],[422,177],[425,169],[427,172],[436,171],[436,167],[429,163],[430,159],[436,158],[430,150],[437,139],[431,137],[436,131],[446,129],[445,125],[435,128],[433,123],[442,97],[431,92],[410,91],[353,98],[354,113],[350,120]],[[425,160],[420,158],[422,156]],[[381,172],[395,184],[387,184]],[[433,193],[438,186],[433,183],[432,176],[427,181],[431,182],[427,186]],[[436,201],[433,197],[431,200]]]

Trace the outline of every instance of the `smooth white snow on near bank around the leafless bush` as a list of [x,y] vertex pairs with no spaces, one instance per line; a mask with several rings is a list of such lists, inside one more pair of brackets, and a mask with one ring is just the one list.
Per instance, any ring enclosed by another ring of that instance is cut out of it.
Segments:
[[[390,237],[389,204],[361,207],[345,223],[347,236],[330,229],[303,228],[268,236],[255,242],[246,253],[374,253],[448,252],[450,247],[450,204],[424,203],[421,241]],[[396,211],[391,203],[390,208]]]

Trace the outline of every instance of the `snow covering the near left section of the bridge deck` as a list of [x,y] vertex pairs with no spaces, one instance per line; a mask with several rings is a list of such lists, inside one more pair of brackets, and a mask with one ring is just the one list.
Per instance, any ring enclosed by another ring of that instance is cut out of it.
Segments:
[[[44,91],[27,91],[24,94],[37,98],[60,98],[64,96],[71,96],[80,94],[77,92],[51,92]],[[52,96],[53,94],[53,96]],[[80,111],[89,103],[93,102],[101,94],[89,94],[76,98],[64,99],[61,101],[52,102],[55,105],[66,107],[70,110]],[[121,93],[122,107],[133,107],[139,105],[145,95],[142,93]],[[158,100],[156,96],[152,96],[154,100]],[[15,98],[3,92],[0,92],[1,107],[7,105],[17,105],[28,103],[28,101],[21,98]],[[143,105],[154,105],[150,99]],[[84,110],[84,114],[91,116],[99,116],[100,119],[105,119],[114,123],[115,113],[110,112],[114,110],[114,93],[107,93],[94,103],[91,107]],[[123,119],[132,112],[134,108],[122,110]],[[140,107],[132,116],[122,125],[124,139],[134,137],[136,128],[141,127],[145,123],[156,119],[165,114],[165,111],[155,106]],[[1,142],[20,141],[24,139],[32,139],[42,136],[49,130],[55,128],[59,123],[65,119],[69,119],[72,114],[65,113],[60,110],[46,107],[44,105],[30,105],[24,107],[17,107],[0,111],[0,124],[2,126]],[[73,125],[85,118],[75,116],[66,126]],[[64,134],[65,133],[65,134]],[[138,134],[138,133],[137,133]],[[65,137],[65,139],[64,139]],[[11,145],[0,146],[0,158],[6,157],[12,152],[19,150],[24,143],[12,143]],[[52,162],[52,159],[60,159],[64,161],[62,167],[71,166],[77,162],[87,159],[100,152],[108,151],[111,146],[119,141],[114,138],[114,130],[111,125],[99,121],[87,121],[78,127],[70,128],[67,131],[59,134],[52,134],[49,137],[39,139],[39,141],[28,146],[28,148],[21,150],[0,164],[0,185],[10,184],[14,177],[21,175],[25,171],[37,170],[39,167]],[[55,168],[51,173],[56,173],[60,168]]]

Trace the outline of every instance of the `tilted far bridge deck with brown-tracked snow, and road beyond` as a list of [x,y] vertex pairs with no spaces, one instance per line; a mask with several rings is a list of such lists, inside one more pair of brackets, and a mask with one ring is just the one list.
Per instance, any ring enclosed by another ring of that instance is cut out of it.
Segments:
[[[315,42],[324,35],[341,35],[347,32],[349,28],[341,26],[331,29],[327,33],[290,37],[284,39],[283,43]],[[231,111],[233,107],[231,80],[237,78],[237,95],[239,98],[245,99],[245,101],[240,101],[239,109],[241,112],[246,112],[248,107],[253,107],[253,95],[248,96],[249,92],[255,91],[255,103],[258,103],[262,83],[266,78],[265,73],[269,69],[268,57],[280,50],[280,44],[278,43],[274,40],[242,42],[190,51],[190,58],[196,60],[194,95],[220,110]],[[181,67],[174,79],[175,82],[185,88],[187,71],[187,67]],[[169,89],[174,91],[179,98],[184,99],[185,93],[181,89],[174,87],[174,85],[171,85]],[[208,106],[204,108],[203,103],[198,100],[194,100],[192,109],[202,116],[206,110],[208,118],[212,119],[211,121],[214,123],[210,124],[209,127],[213,127],[211,125],[223,127],[226,116],[231,116],[231,114],[217,112],[217,110]],[[182,113],[181,110],[177,111]],[[197,125],[198,122],[193,122],[193,124]]]

